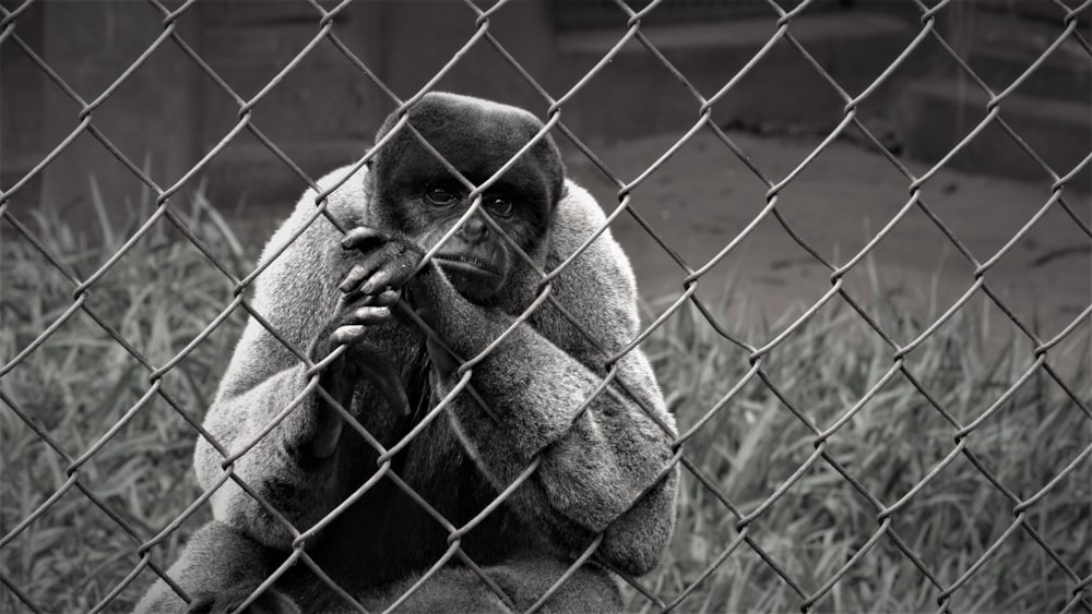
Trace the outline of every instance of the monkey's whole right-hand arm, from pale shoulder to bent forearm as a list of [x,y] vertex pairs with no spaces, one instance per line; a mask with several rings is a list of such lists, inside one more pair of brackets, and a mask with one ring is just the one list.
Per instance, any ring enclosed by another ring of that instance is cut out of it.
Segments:
[[[596,228],[602,214],[572,185],[561,207],[554,245],[563,256]],[[426,276],[425,284],[428,291],[444,293],[440,302],[448,310],[431,317],[437,333],[464,358],[479,353],[513,321],[453,296],[438,274]],[[555,292],[606,352],[636,337],[632,273],[609,234],[573,262]],[[496,421],[465,393],[451,411],[460,436],[498,485],[511,483],[541,457],[529,484],[515,493],[522,499],[517,508],[545,520],[573,550],[605,531],[598,553],[616,568],[641,575],[658,563],[674,528],[677,470],[667,467],[675,422],[639,349],[616,366],[617,381],[640,404],[616,383],[604,387],[606,356],[544,306],[534,327],[517,326],[474,366],[472,383]],[[441,393],[454,384],[454,377],[439,380]]]

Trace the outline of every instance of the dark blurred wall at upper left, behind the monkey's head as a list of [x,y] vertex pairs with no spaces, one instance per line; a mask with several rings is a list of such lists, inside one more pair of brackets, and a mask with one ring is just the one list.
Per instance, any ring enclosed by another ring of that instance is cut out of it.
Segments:
[[[327,2],[328,8],[332,4]],[[15,2],[4,0],[12,10]],[[129,0],[39,2],[15,33],[85,101],[106,91],[163,32],[163,15]],[[462,2],[364,0],[334,33],[399,97],[415,94],[468,40],[475,15]],[[175,184],[239,122],[239,101],[273,80],[319,32],[305,2],[207,1],[192,5],[176,32],[234,94],[173,40],[93,113],[94,125],[161,188]],[[543,0],[521,0],[490,21],[490,32],[536,79],[546,80],[553,34]],[[80,123],[81,105],[54,84],[12,40],[0,45],[0,183],[11,186]],[[526,81],[479,41],[439,84],[544,111]],[[321,41],[258,103],[253,124],[312,179],[358,158],[396,105],[330,41]],[[84,132],[15,194],[21,206],[90,217],[94,178],[119,216],[135,205],[140,181]],[[305,181],[244,130],[179,192],[199,183],[223,208],[287,202]],[[288,195],[286,195],[286,193]]]

